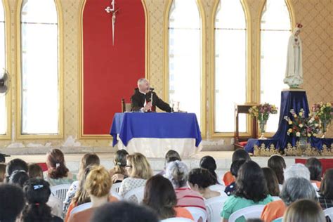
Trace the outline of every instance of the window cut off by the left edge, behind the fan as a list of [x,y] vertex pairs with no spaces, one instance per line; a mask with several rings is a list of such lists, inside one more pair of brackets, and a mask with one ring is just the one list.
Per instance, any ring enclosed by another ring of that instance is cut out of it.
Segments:
[[[0,1],[0,77],[6,69],[6,25],[4,5]],[[7,133],[7,105],[6,96],[0,95],[0,135]]]

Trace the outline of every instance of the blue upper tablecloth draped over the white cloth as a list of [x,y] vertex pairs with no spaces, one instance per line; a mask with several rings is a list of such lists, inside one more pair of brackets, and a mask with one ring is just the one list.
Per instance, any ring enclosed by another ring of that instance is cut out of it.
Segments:
[[117,134],[125,146],[132,138],[195,138],[196,147],[202,141],[194,113],[116,113],[110,129],[113,146]]

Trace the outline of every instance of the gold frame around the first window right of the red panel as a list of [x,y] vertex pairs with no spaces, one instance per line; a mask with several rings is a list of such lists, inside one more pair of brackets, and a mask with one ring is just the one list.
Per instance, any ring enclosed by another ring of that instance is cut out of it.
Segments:
[[[163,34],[163,42],[164,42],[164,100],[169,101],[169,13],[171,4],[174,0],[168,0],[166,3],[166,10],[164,11],[164,34]],[[202,138],[206,138],[206,15],[204,13],[204,6],[202,0],[196,0],[197,8],[200,14],[201,20],[201,41],[202,41],[202,64],[201,64],[201,121],[200,121],[200,129]]]

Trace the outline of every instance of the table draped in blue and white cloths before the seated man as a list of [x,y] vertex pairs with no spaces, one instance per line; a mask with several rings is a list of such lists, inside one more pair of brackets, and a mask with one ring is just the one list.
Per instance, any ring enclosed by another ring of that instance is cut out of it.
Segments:
[[164,157],[172,149],[189,157],[202,148],[194,113],[124,112],[113,117],[112,145],[146,157]]

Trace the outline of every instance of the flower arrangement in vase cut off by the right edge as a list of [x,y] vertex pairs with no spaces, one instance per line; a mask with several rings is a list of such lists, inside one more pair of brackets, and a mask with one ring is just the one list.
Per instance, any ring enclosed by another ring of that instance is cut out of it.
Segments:
[[313,117],[320,119],[320,126],[322,129],[322,133],[324,133],[323,137],[325,137],[325,133],[327,131],[327,126],[331,124],[333,119],[333,108],[331,103],[315,103],[311,111],[313,112]]

